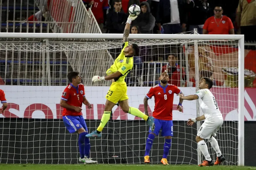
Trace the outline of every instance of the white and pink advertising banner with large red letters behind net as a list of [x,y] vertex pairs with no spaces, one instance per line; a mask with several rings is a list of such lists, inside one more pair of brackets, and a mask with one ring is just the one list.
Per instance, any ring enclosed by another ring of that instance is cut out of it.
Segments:
[[[66,86],[1,86],[5,91],[8,108],[0,117],[20,117],[35,119],[62,119],[60,97]],[[105,106],[105,95],[109,87],[85,87],[86,98],[92,104],[91,109],[82,106],[84,119],[101,119]],[[144,112],[143,99],[150,87],[127,87],[129,105]],[[187,95],[195,93],[195,87],[180,87]],[[212,88],[224,120],[238,120],[238,90],[236,88]],[[256,121],[255,88],[245,90],[245,120]],[[183,112],[176,110],[179,97],[174,94],[173,120],[188,120],[196,116],[196,101],[184,100]],[[148,100],[148,112],[152,115],[154,98]],[[141,120],[131,114],[124,113],[117,106],[113,108],[113,118],[116,120]]]

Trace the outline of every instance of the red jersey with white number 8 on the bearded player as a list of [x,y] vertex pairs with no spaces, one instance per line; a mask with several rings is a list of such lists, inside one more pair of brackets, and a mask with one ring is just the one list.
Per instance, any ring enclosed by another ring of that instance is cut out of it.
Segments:
[[180,89],[172,84],[165,87],[160,84],[151,87],[146,97],[155,98],[155,108],[153,117],[160,120],[173,120],[173,97],[175,94],[181,93]]

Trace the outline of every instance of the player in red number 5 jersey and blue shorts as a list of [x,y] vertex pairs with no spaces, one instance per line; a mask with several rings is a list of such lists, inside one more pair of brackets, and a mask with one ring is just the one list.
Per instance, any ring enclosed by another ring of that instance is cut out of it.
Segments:
[[63,91],[60,106],[63,107],[63,122],[70,133],[79,134],[78,145],[80,151],[79,161],[87,164],[97,163],[90,159],[90,140],[86,137],[88,129],[82,115],[82,104],[88,109],[92,105],[85,98],[84,86],[81,84],[81,77],[78,72],[68,73],[68,80],[71,82]]

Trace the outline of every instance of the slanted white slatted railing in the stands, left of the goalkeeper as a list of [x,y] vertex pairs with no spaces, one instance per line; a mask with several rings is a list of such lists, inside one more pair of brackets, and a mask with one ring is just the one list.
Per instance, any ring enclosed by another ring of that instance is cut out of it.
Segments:
[[[54,33],[101,33],[91,9],[89,8],[87,11],[82,0],[37,0],[36,3],[42,10],[43,15],[45,15],[46,20],[52,22],[50,28]],[[108,51],[97,49],[84,53],[65,53],[65,55],[72,70],[79,71],[81,77],[92,77],[92,73],[89,72],[91,67],[96,66],[94,70],[107,70],[110,65],[105,65],[103,62],[106,61],[105,59],[109,61],[113,60]],[[83,66],[80,65],[80,59],[82,58],[87,59],[87,61],[83,61]],[[96,60],[93,60],[94,58],[99,58],[97,64],[95,63]],[[85,64],[86,62],[88,65]],[[108,63],[110,64],[111,62]],[[81,67],[75,67],[78,65]],[[91,84],[91,82],[84,82],[84,84]]]

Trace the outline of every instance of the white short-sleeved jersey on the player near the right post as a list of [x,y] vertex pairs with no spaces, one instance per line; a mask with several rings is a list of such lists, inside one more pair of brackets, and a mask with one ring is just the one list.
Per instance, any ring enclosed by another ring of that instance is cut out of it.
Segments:
[[222,118],[215,97],[208,88],[198,90],[195,95],[201,99],[199,103],[206,120]]

